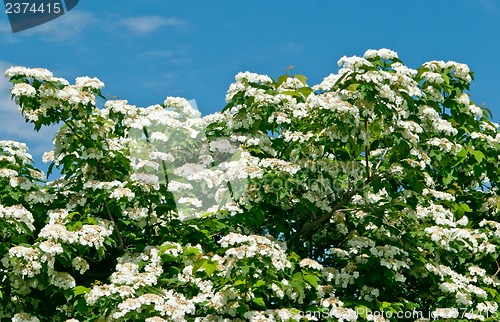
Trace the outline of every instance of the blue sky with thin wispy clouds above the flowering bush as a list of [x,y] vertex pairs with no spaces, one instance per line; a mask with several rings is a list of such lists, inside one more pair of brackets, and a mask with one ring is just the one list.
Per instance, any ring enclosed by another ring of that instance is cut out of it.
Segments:
[[[3,7],[2,7],[3,10]],[[43,67],[73,82],[98,77],[104,93],[137,106],[166,96],[220,110],[239,71],[278,77],[294,65],[309,84],[347,55],[389,48],[410,67],[454,60],[475,72],[472,99],[500,119],[497,0],[80,1],[44,25],[13,34],[0,14],[0,70]],[[41,166],[55,129],[35,133],[0,79],[0,139],[28,143]]]

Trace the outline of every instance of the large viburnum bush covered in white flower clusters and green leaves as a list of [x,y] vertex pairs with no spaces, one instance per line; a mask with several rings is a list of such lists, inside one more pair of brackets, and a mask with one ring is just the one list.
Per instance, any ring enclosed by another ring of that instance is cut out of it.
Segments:
[[0,317],[497,321],[500,133],[472,72],[388,49],[339,66],[239,73],[205,117],[7,70],[27,122],[62,125],[62,177],[0,142]]

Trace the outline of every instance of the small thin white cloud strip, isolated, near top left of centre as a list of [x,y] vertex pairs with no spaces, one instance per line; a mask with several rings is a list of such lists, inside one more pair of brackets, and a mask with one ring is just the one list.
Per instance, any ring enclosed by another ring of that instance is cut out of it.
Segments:
[[143,16],[122,19],[120,25],[127,28],[135,35],[146,35],[155,32],[162,27],[185,28],[188,23],[177,18],[165,18],[161,16]]

